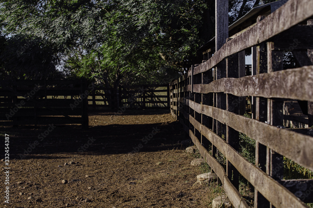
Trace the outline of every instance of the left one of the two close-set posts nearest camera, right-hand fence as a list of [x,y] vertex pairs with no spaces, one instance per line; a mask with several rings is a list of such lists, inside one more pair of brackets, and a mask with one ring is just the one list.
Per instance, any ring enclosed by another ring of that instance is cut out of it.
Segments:
[[[267,46],[261,43],[259,46],[254,46],[252,49],[252,75],[262,74],[267,72]],[[267,121],[267,99],[262,97],[253,97],[253,119],[261,122]],[[259,142],[255,142],[255,165],[266,172],[267,147]],[[254,207],[269,208],[269,201],[254,189]]]

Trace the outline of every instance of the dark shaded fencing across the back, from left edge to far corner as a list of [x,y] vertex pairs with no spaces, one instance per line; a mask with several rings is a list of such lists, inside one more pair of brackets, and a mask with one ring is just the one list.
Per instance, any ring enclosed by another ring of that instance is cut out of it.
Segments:
[[120,86],[116,91],[85,80],[18,80],[0,86],[0,125],[88,128],[88,109],[169,109],[169,85]]

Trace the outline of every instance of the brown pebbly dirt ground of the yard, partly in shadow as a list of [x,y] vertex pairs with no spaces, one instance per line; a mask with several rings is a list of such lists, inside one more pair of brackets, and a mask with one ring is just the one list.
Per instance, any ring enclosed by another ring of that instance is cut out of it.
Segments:
[[89,130],[0,127],[1,149],[10,136],[10,163],[1,162],[3,172],[10,167],[10,203],[1,197],[2,206],[208,207],[208,187],[194,185],[199,168],[168,110],[91,112],[89,120]]

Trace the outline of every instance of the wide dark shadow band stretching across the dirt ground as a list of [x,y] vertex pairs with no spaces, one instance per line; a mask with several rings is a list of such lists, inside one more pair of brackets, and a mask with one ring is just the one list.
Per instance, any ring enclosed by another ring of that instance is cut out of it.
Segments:
[[[142,115],[154,111],[142,112]],[[160,111],[160,114],[165,112]],[[129,112],[135,114],[135,112]],[[106,155],[129,152],[155,152],[167,149],[183,149],[183,130],[179,122],[144,124],[107,124],[19,126],[1,127],[2,133],[10,135],[12,159],[46,158],[50,154]],[[58,157],[56,155],[56,157]],[[58,157],[59,158],[59,157]]]

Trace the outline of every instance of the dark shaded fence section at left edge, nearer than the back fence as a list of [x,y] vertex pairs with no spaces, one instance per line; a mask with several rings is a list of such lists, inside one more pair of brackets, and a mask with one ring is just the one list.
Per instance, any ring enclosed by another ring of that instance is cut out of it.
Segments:
[[17,80],[1,81],[0,86],[0,125],[82,124],[88,128],[85,81]]

